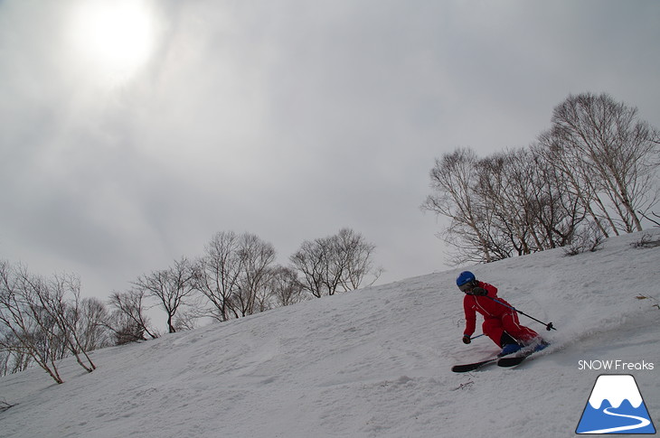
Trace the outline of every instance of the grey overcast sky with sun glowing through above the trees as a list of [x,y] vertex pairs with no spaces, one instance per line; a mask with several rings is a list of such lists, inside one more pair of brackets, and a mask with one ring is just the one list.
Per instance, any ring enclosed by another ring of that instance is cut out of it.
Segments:
[[446,269],[434,159],[522,147],[571,93],[660,126],[660,3],[0,0],[0,258],[106,298],[203,254],[353,228]]

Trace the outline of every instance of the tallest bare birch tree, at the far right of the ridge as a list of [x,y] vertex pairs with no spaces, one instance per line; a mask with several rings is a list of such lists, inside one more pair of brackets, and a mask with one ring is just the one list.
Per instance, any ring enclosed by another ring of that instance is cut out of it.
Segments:
[[660,135],[639,120],[637,109],[607,94],[569,96],[554,108],[551,135],[558,159],[571,163],[580,175],[574,185],[589,187],[589,201],[599,209],[597,219],[608,220],[615,232],[642,230],[636,211],[646,213],[658,200],[654,158]]

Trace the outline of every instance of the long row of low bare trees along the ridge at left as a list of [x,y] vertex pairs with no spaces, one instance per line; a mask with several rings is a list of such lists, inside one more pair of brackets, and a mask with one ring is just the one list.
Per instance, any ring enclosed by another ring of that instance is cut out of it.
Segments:
[[373,266],[374,249],[360,233],[342,228],[303,242],[282,266],[269,242],[223,231],[202,256],[139,275],[107,303],[81,297],[77,275],[43,277],[0,260],[0,375],[36,364],[62,383],[57,363],[71,355],[92,372],[91,350],[161,335],[147,314],[153,307],[165,312],[172,333],[203,318],[226,322],[373,284],[382,272]]

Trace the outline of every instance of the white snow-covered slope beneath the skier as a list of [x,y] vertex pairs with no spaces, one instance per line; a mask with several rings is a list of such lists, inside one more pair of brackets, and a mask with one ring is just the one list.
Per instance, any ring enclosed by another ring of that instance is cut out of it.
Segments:
[[[653,233],[660,238],[660,229]],[[462,269],[326,297],[0,378],[0,435],[15,437],[573,436],[600,374],[632,374],[660,424],[660,247],[640,234],[471,269],[552,341],[512,369],[454,374],[497,351],[461,342]],[[600,360],[654,369],[597,370]]]

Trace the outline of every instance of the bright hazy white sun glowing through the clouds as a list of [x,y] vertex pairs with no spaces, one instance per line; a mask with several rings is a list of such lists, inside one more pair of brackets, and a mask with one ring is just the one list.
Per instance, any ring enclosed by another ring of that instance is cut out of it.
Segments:
[[154,50],[154,18],[144,0],[83,0],[71,15],[70,36],[95,74],[129,79]]

